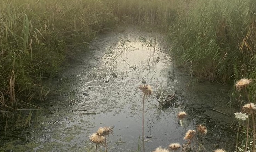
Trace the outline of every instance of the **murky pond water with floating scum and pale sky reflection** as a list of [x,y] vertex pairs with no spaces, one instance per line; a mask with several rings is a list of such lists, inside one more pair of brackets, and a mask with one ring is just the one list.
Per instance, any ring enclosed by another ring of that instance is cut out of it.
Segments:
[[[114,126],[114,136],[107,137],[108,151],[136,151],[142,135],[142,92],[138,88],[142,80],[154,91],[145,99],[146,151],[172,142],[185,143],[186,130],[198,124],[208,128],[201,141],[206,151],[233,150],[236,132],[229,126],[235,110],[227,105],[231,88],[207,81],[191,83],[194,78],[188,74],[189,63],[186,68],[175,67],[165,53],[170,46],[164,37],[137,28],[100,35],[83,52],[82,61],[56,80],[57,85],[69,85],[64,99],[48,98],[41,103],[51,112],[43,113],[40,127],[23,135],[25,140],[5,138],[0,150],[88,151],[95,146],[88,142],[90,134],[99,127]],[[159,108],[158,93],[175,94],[177,104]],[[181,110],[188,113],[185,126],[177,119]]]

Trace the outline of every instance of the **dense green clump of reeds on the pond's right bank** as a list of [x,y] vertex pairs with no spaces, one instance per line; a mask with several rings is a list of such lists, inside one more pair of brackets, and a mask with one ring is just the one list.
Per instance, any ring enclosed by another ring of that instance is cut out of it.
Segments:
[[178,64],[191,62],[193,75],[222,83],[233,83],[254,70],[255,1],[197,0],[182,5],[187,7],[169,36]]

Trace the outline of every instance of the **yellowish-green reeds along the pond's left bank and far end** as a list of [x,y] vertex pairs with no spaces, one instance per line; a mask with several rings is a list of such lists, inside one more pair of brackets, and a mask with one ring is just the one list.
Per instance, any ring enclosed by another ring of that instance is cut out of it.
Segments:
[[144,0],[3,0],[0,3],[1,116],[38,109],[52,92],[43,81],[59,74],[62,63],[77,58],[99,32],[118,24],[167,30],[175,18],[173,1]]

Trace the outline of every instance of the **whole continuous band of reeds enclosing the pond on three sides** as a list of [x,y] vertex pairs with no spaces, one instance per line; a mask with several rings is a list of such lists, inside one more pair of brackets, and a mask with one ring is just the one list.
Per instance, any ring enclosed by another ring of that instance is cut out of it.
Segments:
[[[79,56],[75,48],[124,23],[168,31],[175,62],[189,65],[196,78],[225,84],[255,79],[255,10],[255,0],[2,0],[1,117],[8,120],[22,107],[31,118],[41,108],[29,102],[53,91],[44,80]],[[248,86],[244,98],[255,103],[255,90],[256,83]]]

